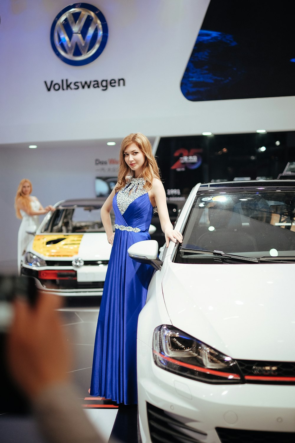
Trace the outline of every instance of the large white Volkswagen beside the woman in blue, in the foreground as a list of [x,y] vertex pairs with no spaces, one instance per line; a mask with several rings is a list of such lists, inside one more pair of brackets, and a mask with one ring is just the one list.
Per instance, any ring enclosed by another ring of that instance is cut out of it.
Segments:
[[138,319],[139,441],[295,441],[295,181],[198,184]]

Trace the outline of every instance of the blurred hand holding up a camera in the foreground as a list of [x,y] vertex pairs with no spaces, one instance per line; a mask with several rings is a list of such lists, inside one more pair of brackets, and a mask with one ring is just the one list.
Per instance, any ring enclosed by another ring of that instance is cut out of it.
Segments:
[[61,297],[42,292],[34,307],[23,299],[14,302],[7,340],[8,368],[31,400],[46,387],[69,380],[72,356],[56,311],[61,305]]

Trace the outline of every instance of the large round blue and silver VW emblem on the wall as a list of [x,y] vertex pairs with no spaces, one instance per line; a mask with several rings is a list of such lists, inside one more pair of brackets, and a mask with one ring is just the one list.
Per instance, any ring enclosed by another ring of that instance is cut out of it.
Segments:
[[103,13],[88,3],[73,3],[55,17],[50,31],[51,46],[63,62],[87,65],[103,52],[108,37]]

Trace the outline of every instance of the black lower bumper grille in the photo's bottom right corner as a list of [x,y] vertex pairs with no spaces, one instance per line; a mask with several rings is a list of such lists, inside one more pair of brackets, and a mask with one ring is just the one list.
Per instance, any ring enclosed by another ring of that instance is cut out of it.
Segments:
[[294,443],[294,432],[246,431],[216,427],[221,443]]

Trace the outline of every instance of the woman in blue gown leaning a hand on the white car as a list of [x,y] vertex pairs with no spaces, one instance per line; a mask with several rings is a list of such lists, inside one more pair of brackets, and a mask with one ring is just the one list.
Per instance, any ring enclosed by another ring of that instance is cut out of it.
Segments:
[[[121,144],[118,183],[101,208],[112,250],[97,322],[90,387],[90,395],[117,403],[137,403],[137,323],[153,268],[130,259],[127,249],[150,239],[148,231],[155,206],[166,246],[170,240],[182,242],[182,235],[169,220],[151,144],[141,133],[130,134]],[[115,234],[111,208],[115,212]]]

